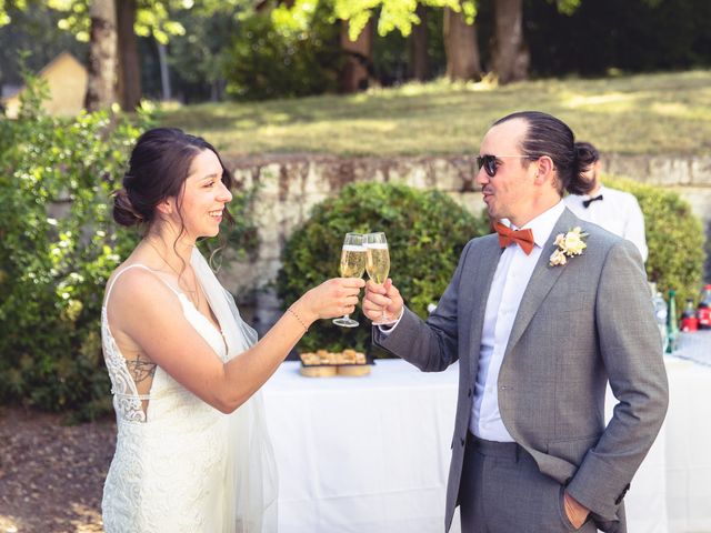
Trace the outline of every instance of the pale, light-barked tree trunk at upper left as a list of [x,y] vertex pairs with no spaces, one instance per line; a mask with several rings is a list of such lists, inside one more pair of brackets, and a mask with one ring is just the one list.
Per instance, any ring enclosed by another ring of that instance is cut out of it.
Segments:
[[113,0],[92,0],[89,7],[89,82],[84,97],[87,111],[110,108],[116,102],[117,33]]

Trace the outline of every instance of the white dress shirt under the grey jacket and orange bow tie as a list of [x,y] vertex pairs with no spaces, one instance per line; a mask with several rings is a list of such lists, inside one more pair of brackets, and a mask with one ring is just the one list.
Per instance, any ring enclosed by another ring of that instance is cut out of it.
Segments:
[[[469,422],[469,430],[481,439],[513,442],[513,438],[503,425],[499,412],[499,370],[523,292],[529,284],[535,263],[541,257],[543,247],[564,210],[565,204],[561,200],[521,228],[533,231],[535,245],[529,255],[518,244],[511,244],[507,247],[499,259],[487,300],[479,352],[479,371],[474,383]],[[508,221],[502,222],[507,223]],[[508,225],[514,230],[519,229],[512,224]]]

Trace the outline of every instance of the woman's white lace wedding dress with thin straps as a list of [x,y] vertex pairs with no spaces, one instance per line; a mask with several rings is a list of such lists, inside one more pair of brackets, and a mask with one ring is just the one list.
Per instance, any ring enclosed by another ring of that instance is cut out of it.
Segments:
[[[200,335],[228,361],[256,342],[196,250],[191,264],[222,331],[178,294],[182,311]],[[130,268],[148,269],[134,264]],[[158,273],[156,274],[158,275]],[[159,275],[160,278],[160,275]],[[160,366],[150,394],[139,395],[107,315],[102,344],[111,378],[118,436],[102,501],[108,533],[267,533],[277,530],[277,475],[260,393],[232,414],[210,406]],[[146,411],[143,402],[148,402]]]

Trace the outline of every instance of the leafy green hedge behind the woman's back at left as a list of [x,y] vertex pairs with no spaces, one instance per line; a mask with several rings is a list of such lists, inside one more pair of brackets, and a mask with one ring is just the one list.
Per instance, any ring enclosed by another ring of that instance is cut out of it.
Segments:
[[[47,117],[46,90],[28,83],[20,118],[0,117],[0,404],[93,418],[111,409],[103,290],[138,240],[113,222],[109,197],[151,118]],[[230,205],[238,221],[223,235],[230,252],[256,245],[252,194],[236,193]]]

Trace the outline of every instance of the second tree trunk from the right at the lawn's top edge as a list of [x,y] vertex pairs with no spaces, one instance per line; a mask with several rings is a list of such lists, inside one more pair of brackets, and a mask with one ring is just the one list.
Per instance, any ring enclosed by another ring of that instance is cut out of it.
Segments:
[[481,80],[481,59],[474,24],[468,24],[462,11],[444,8],[444,52],[447,77],[454,80]]

